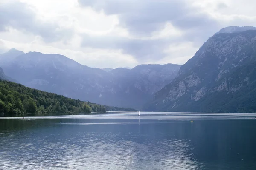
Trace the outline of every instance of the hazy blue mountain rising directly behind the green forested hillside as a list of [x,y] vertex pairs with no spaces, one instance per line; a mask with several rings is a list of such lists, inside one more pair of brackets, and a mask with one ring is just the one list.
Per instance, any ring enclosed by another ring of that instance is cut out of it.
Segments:
[[30,88],[86,101],[99,102],[100,91],[112,85],[105,71],[58,54],[29,52],[1,66],[6,75]]

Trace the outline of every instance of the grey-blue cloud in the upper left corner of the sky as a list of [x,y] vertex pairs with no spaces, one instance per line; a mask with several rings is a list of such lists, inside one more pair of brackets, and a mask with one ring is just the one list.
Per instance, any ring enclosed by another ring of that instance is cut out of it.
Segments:
[[36,11],[26,3],[10,0],[0,4],[0,11],[0,31],[15,28],[26,34],[39,35],[45,42],[72,36],[71,30],[61,29],[58,23],[37,18]]

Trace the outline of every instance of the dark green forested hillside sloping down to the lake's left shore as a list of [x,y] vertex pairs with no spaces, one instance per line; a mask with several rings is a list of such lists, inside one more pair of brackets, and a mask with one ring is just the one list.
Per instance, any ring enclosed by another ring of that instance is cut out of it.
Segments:
[[105,111],[135,110],[83,102],[0,80],[0,114],[4,116],[22,115],[24,113],[90,113]]

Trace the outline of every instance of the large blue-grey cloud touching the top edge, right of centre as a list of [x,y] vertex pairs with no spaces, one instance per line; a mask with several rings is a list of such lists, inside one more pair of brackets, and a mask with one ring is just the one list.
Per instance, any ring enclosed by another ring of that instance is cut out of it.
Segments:
[[[166,22],[188,30],[215,21],[187,0],[79,0],[81,6],[118,15],[120,25],[135,35],[150,35]],[[213,25],[213,24],[212,24]]]

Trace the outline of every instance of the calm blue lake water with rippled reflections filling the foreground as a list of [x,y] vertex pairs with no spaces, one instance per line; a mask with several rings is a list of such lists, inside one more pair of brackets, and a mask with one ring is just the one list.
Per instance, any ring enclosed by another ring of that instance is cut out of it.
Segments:
[[2,118],[0,169],[256,170],[255,117],[141,113]]

